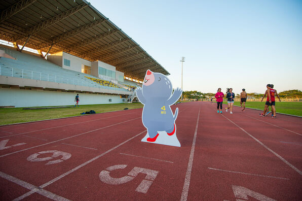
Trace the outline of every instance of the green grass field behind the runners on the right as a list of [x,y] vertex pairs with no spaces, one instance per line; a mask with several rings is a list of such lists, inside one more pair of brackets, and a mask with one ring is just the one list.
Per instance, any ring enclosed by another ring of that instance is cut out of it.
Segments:
[[[223,102],[226,104],[226,102]],[[245,107],[263,110],[266,102],[246,102]],[[235,102],[235,106],[240,106],[240,102]],[[270,107],[271,111],[271,107]],[[302,116],[302,102],[276,102],[276,112]]]

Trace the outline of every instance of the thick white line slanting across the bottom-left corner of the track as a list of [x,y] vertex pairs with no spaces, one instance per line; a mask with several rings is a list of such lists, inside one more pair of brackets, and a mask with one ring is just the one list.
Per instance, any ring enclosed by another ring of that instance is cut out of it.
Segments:
[[[34,185],[32,185],[32,184],[29,184],[29,183],[27,183],[27,182],[25,182],[25,181],[23,181],[23,180],[20,180],[20,179],[18,179],[18,178],[15,178],[15,177],[13,177],[13,176],[11,176],[11,175],[8,175],[8,174],[5,174],[5,173],[3,173],[3,172],[0,172],[0,177],[2,177],[2,178],[4,178],[4,179],[6,179],[6,180],[9,180],[9,181],[11,181],[11,182],[13,182],[13,183],[15,183],[15,184],[17,184],[17,185],[19,185],[19,186],[22,186],[22,187],[24,187],[24,188],[27,188],[27,189],[29,189],[29,190],[31,190],[31,191],[33,191],[33,193],[34,192],[37,192],[37,193],[39,193],[39,194],[41,194],[41,195],[44,195],[44,196],[46,196],[46,197],[48,197],[48,198],[51,198],[51,199],[54,199],[54,200],[69,200],[69,199],[66,199],[66,198],[64,198],[64,197],[61,197],[61,196],[59,196],[59,195],[56,195],[56,194],[54,194],[54,193],[52,193],[52,192],[49,192],[49,191],[47,191],[47,190],[44,190],[44,189],[40,189],[39,187],[36,187],[36,186],[34,186]],[[31,192],[31,191],[29,191],[29,192]],[[27,193],[26,193],[27,194]],[[32,193],[31,193],[32,194]],[[24,198],[24,197],[17,197],[16,199],[14,199],[14,200],[20,200],[20,199],[22,199],[22,198]]]

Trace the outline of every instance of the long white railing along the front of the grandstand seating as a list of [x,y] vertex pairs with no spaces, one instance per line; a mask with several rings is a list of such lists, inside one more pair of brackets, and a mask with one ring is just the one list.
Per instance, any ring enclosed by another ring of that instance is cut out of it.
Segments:
[[[62,84],[90,86],[90,87],[96,87],[96,88],[106,88],[106,89],[111,88],[111,87],[105,87],[105,86],[99,85],[99,84],[97,84],[95,82],[91,82],[91,81],[84,81],[84,80],[67,78],[67,77],[52,75],[52,74],[47,74],[47,73],[28,71],[28,70],[24,70],[24,69],[17,69],[17,68],[13,68],[13,67],[10,67],[7,65],[0,65],[0,75],[15,77],[15,78],[25,78],[25,79],[31,79],[31,80],[56,82],[56,83],[62,83]],[[126,91],[125,89],[120,89],[120,88],[115,88],[115,89]]]

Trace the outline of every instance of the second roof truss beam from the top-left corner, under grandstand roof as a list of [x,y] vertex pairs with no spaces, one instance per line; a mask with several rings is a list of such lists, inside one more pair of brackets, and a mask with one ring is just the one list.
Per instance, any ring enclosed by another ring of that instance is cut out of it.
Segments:
[[29,28],[28,31],[25,31],[24,33],[21,33],[19,35],[14,36],[13,37],[13,41],[18,41],[18,40],[23,39],[26,36],[33,35],[34,33],[39,32],[39,31],[41,31],[41,30],[43,30],[43,29],[45,29],[45,28],[47,28],[49,26],[52,26],[54,23],[57,23],[57,22],[65,19],[65,18],[69,17],[70,15],[73,15],[74,13],[76,13],[76,12],[78,12],[78,11],[86,8],[87,6],[88,5],[85,4],[85,3],[84,4],[80,4],[77,7],[73,7],[71,9],[69,9],[69,10],[67,10],[67,11],[59,14],[59,15],[56,15],[56,16],[48,19],[48,20],[45,20],[45,21],[43,21],[43,22],[41,22],[41,23],[39,23],[39,24],[37,24],[37,25]]

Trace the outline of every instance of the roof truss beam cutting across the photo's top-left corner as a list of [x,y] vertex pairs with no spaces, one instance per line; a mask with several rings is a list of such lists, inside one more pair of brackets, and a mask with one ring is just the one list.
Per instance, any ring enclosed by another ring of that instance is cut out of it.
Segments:
[[8,18],[12,17],[16,13],[22,11],[36,0],[21,0],[20,2],[14,4],[13,6],[7,8],[6,10],[2,11],[0,23],[4,22]]

